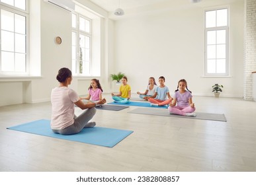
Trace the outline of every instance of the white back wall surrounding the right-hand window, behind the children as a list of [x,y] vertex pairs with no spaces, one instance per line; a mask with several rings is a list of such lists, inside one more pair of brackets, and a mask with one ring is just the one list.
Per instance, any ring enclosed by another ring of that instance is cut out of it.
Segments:
[[187,79],[194,95],[212,96],[212,85],[219,83],[222,96],[243,96],[243,1],[230,5],[231,77],[202,77],[204,10],[211,7],[191,5],[115,22],[115,72],[128,76],[132,92],[145,91],[149,77],[163,75],[171,92]]

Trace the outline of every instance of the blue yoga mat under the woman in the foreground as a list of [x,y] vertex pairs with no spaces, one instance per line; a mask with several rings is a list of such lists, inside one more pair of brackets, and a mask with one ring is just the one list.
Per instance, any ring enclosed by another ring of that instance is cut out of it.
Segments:
[[50,128],[50,120],[36,120],[34,122],[13,126],[7,129],[55,137],[58,139],[66,139],[69,141],[89,143],[92,145],[100,145],[104,147],[114,147],[114,145],[122,141],[122,139],[133,132],[123,129],[94,127],[84,128],[81,130],[81,132],[74,135],[61,135],[52,131]]

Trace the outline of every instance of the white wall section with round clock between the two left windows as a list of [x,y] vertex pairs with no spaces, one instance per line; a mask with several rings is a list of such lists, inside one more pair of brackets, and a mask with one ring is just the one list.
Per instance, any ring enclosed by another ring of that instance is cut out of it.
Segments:
[[[42,78],[32,81],[32,102],[50,100],[52,88],[58,85],[58,70],[61,67],[71,69],[71,13],[44,1],[40,10]],[[62,44],[54,42],[56,36],[62,38]]]

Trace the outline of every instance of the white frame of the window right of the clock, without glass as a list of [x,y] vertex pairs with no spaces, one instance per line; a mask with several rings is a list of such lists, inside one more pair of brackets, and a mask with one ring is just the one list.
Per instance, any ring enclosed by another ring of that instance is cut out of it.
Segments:
[[[76,48],[75,48],[75,69],[73,69],[73,54],[72,54],[72,73],[73,76],[77,76],[77,77],[90,77],[91,71],[92,71],[92,43],[93,43],[93,35],[92,35],[92,20],[89,17],[86,17],[85,15],[81,15],[80,13],[76,13],[76,12],[72,12],[73,15],[76,16],[76,28],[73,28],[73,26],[71,26],[71,32],[75,32],[76,34]],[[79,28],[79,19],[83,18],[85,20],[89,20],[89,32],[80,30]],[[88,74],[83,74],[83,73],[79,73],[79,35],[83,34],[83,36],[88,36],[90,39],[90,43],[89,43],[89,73]],[[72,46],[73,47],[73,44]]]

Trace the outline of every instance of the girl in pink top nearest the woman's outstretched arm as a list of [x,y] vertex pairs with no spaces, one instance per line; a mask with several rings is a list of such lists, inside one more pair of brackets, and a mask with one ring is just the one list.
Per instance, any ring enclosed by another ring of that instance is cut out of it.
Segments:
[[97,102],[102,100],[103,89],[101,88],[101,83],[97,79],[91,79],[91,85],[88,88],[88,96],[86,98],[81,98],[84,100],[90,100],[92,102]]

